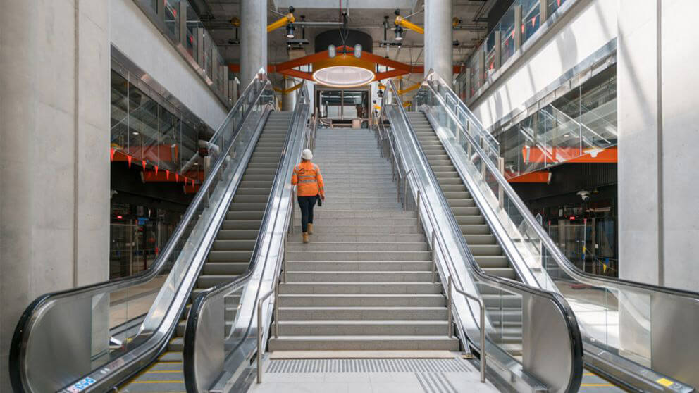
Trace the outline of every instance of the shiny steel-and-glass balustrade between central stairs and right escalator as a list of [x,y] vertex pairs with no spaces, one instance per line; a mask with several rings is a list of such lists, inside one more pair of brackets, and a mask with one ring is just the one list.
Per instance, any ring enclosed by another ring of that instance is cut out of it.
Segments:
[[[478,351],[489,375],[508,389],[575,392],[582,378],[582,342],[572,310],[559,294],[483,273],[464,241],[392,82],[383,97],[377,135],[396,168],[396,178],[406,182],[420,223],[430,235],[436,271],[445,293],[452,292],[452,282],[458,294],[450,297],[449,307],[464,349]],[[409,171],[410,175],[401,175]],[[410,195],[403,195],[404,206]],[[493,330],[488,320],[485,326],[480,323],[483,301],[477,285],[516,294],[523,300],[522,323],[532,339],[524,347],[522,361],[490,339]],[[544,335],[556,345],[542,344],[546,342]]]

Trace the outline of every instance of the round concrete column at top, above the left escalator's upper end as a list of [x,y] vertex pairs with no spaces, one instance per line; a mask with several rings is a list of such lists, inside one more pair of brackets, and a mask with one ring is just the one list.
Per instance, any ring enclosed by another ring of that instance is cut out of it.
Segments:
[[240,83],[247,87],[267,67],[267,2],[240,1]]

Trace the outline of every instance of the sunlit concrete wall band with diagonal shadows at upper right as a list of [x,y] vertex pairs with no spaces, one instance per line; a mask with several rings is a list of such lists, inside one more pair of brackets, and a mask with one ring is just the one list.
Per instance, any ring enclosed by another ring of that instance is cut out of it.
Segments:
[[619,0],[578,0],[562,20],[471,104],[471,111],[483,126],[490,127],[523,106],[534,94],[617,37],[618,4]]

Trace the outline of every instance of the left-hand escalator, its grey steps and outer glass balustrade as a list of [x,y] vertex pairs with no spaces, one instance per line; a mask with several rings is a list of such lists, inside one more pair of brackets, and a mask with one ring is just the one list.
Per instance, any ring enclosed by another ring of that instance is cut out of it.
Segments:
[[[44,294],[27,307],[10,347],[15,392],[185,390],[192,301],[249,279],[264,216],[276,203],[278,168],[288,146],[304,137],[291,113],[273,112],[272,104],[271,82],[260,70],[206,143],[204,182],[147,270]],[[222,317],[245,311],[239,299],[222,301]],[[233,334],[232,323],[220,328]]]

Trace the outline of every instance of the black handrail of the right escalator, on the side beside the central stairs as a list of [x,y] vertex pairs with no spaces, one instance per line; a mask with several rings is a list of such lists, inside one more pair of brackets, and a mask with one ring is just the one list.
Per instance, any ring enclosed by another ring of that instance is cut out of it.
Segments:
[[[404,122],[404,125],[406,125],[407,130],[409,131],[410,138],[412,139],[412,142],[415,146],[420,146],[419,140],[417,139],[416,133],[412,127],[412,124],[410,123],[407,113],[405,112],[405,109],[402,106],[402,103],[400,102],[400,96],[398,96],[397,91],[395,89],[395,85],[393,85],[392,81],[390,80],[387,84],[387,88],[390,88],[392,91],[393,96],[395,99],[398,101],[397,107],[399,108],[398,111],[401,114],[401,118]],[[384,97],[387,96],[388,94],[384,94]],[[385,105],[382,105],[382,111],[383,108],[385,108]],[[390,137],[389,137],[389,142]],[[428,164],[428,159],[426,154],[424,153],[423,149],[418,149],[419,154],[420,154],[420,159],[421,163],[423,166],[426,166],[428,168],[427,173],[431,177],[431,180],[433,181],[434,184],[438,184],[438,181],[436,179],[436,176],[431,168],[431,166]],[[401,156],[401,158],[403,158]],[[404,159],[404,158],[403,158]],[[487,161],[487,160],[485,160]],[[403,165],[405,166],[406,163],[404,162]],[[416,185],[416,188],[419,189],[423,195],[426,194],[424,189],[422,188],[422,185],[420,182],[414,181],[414,185]],[[444,192],[442,191],[441,188],[437,187],[437,190],[435,194],[438,196],[440,199],[440,204],[442,206],[449,206],[448,201],[444,195]],[[407,197],[407,196],[406,196]],[[433,211],[433,206],[431,204],[421,204],[421,206],[426,206],[426,211],[428,212],[428,217],[431,218],[431,220],[435,221],[435,216],[436,213]],[[419,214],[419,212],[418,212]],[[575,317],[575,314],[572,310],[572,308],[569,306],[567,301],[560,295],[555,292],[549,292],[545,291],[543,289],[538,289],[538,288],[532,288],[527,285],[524,285],[521,282],[516,282],[514,280],[507,280],[502,277],[497,277],[493,275],[489,275],[488,273],[485,273],[483,268],[481,266],[478,266],[478,263],[476,263],[476,259],[474,258],[473,254],[471,254],[471,250],[469,249],[468,245],[466,244],[466,240],[464,239],[463,235],[460,235],[462,232],[459,229],[459,225],[456,222],[456,219],[454,218],[453,214],[447,214],[445,215],[447,217],[448,222],[450,223],[450,230],[454,231],[454,233],[458,233],[459,236],[455,236],[457,239],[459,239],[459,245],[462,247],[462,250],[464,251],[464,254],[466,254],[466,261],[468,262],[467,266],[469,266],[469,270],[471,270],[474,275],[478,277],[478,280],[485,282],[486,285],[490,285],[491,287],[498,287],[501,289],[504,289],[505,291],[508,292],[515,292],[515,293],[523,293],[526,292],[528,294],[531,294],[536,297],[543,297],[548,299],[549,301],[552,302],[552,304],[555,304],[559,312],[562,314],[564,323],[566,324],[567,327],[567,332],[569,335],[569,340],[571,343],[571,375],[569,378],[569,385],[567,386],[566,391],[567,392],[576,392],[577,389],[580,387],[581,381],[582,381],[582,370],[583,370],[583,342],[581,338],[581,333],[579,330],[579,326]],[[437,235],[440,237],[443,237],[443,233],[441,231],[437,231]],[[443,239],[440,239],[441,244],[445,244]],[[439,242],[438,242],[439,243]],[[434,245],[433,245],[434,247]],[[444,251],[443,251],[444,252]],[[449,253],[446,253],[449,254]],[[452,264],[454,263],[452,256],[450,255],[450,260],[452,261]],[[450,269],[449,265],[447,265],[447,268]],[[451,269],[450,269],[451,272]],[[466,289],[464,289],[461,280],[453,280],[454,287],[457,287],[462,292],[466,292]],[[479,296],[480,297],[480,296]],[[476,316],[473,313],[473,310],[469,308],[469,311],[471,312],[471,316],[476,320]],[[481,326],[481,329],[485,327]],[[495,344],[497,345],[497,344]]]

